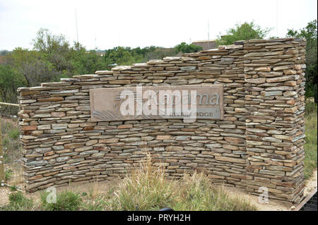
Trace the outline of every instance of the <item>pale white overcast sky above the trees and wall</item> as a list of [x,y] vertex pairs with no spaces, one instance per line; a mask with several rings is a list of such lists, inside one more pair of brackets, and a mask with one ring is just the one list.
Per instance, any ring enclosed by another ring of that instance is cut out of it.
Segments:
[[75,12],[78,41],[87,49],[174,47],[208,39],[208,21],[210,39],[235,23],[252,20],[261,28],[273,28],[269,37],[285,37],[288,28],[298,30],[317,19],[317,0],[0,0],[0,49],[32,49],[40,28],[73,43]]

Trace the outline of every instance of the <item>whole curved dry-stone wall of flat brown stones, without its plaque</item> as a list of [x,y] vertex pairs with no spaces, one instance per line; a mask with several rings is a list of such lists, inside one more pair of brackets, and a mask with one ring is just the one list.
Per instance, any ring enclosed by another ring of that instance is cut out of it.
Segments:
[[[203,171],[213,183],[299,202],[305,44],[252,39],[18,88],[26,190],[122,177],[151,154],[170,178]],[[136,85],[223,85],[223,119],[90,121],[90,89]]]

